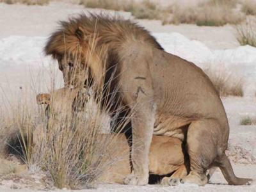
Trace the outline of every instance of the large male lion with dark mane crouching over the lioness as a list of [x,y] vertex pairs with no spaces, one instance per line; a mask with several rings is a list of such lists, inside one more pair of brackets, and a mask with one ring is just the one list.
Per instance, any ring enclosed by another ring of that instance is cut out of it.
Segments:
[[109,84],[102,100],[115,100],[111,110],[122,106],[124,115],[131,112],[133,171],[126,184],[148,183],[153,134],[186,141],[189,175],[170,179],[170,185],[180,180],[203,186],[211,166],[220,167],[228,184],[251,180],[237,178],[225,155],[227,115],[209,77],[193,63],[163,51],[145,29],[130,20],[80,15],[61,22],[45,52],[58,60],[65,84],[84,83],[79,79],[88,67],[93,83]]

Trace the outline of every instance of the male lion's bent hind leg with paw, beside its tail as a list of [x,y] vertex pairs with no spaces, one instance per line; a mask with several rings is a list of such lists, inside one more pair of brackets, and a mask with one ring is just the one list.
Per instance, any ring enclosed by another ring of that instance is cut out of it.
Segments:
[[188,176],[181,183],[193,183],[199,186],[207,184],[206,171],[218,157],[220,141],[220,124],[214,119],[204,119],[192,122],[188,127],[187,151],[190,161]]

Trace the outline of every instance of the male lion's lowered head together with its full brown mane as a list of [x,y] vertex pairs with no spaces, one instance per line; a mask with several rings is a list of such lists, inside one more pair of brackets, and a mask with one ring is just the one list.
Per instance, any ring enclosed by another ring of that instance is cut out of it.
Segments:
[[121,49],[130,40],[163,49],[131,20],[90,14],[60,22],[60,29],[52,33],[44,50],[58,60],[65,85],[76,86],[88,77],[102,80],[104,71],[122,60]]

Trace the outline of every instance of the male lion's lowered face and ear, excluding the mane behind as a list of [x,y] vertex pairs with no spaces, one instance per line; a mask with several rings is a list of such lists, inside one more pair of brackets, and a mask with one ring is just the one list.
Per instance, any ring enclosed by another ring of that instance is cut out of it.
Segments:
[[[45,46],[46,54],[58,60],[60,70],[63,72],[65,86],[81,83],[87,75],[86,54],[88,44],[83,40],[83,33],[79,27],[66,26],[61,22],[63,29],[52,34]],[[64,28],[66,26],[66,28]]]

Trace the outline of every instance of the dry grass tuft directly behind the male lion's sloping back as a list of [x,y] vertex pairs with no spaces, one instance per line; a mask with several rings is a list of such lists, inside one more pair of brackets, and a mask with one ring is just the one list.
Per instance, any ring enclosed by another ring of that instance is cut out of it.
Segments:
[[205,73],[214,84],[216,91],[221,97],[227,97],[228,95],[243,97],[243,80],[232,77],[228,72],[214,71],[211,68],[205,69]]

